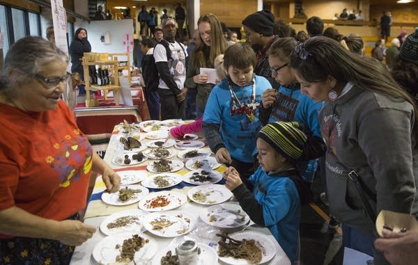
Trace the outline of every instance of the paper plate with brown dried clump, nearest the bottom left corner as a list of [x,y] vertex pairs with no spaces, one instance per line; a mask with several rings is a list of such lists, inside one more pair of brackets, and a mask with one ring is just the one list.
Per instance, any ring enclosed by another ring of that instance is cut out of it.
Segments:
[[150,236],[122,232],[99,241],[92,255],[98,264],[145,264],[157,251],[158,244]]

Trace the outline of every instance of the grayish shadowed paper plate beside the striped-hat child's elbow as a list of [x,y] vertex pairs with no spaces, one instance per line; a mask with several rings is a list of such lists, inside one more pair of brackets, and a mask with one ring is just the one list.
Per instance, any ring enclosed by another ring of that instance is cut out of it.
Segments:
[[219,228],[242,227],[249,222],[249,216],[235,203],[213,205],[203,209],[199,217],[208,225]]

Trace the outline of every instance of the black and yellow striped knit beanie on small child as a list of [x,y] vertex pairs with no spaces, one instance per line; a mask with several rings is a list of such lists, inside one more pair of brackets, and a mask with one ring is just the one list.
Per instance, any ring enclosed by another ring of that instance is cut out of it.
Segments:
[[265,125],[257,137],[265,140],[279,154],[287,159],[297,160],[302,156],[307,136],[297,122],[273,122]]

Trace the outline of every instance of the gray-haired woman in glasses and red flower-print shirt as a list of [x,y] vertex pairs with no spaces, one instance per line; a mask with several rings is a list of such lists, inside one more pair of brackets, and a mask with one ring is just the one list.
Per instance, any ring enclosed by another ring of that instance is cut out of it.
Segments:
[[95,227],[77,220],[91,172],[120,177],[93,152],[60,98],[71,74],[52,42],[10,47],[0,76],[0,264],[68,264]]

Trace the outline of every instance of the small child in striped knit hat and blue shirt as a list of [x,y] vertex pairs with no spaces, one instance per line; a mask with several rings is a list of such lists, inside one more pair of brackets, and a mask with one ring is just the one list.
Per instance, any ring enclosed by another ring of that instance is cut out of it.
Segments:
[[300,223],[300,196],[292,178],[299,177],[295,163],[307,143],[298,127],[297,122],[273,122],[258,132],[260,166],[249,177],[254,184],[252,194],[235,168],[224,172],[226,188],[254,223],[269,228],[292,263],[299,259]]

